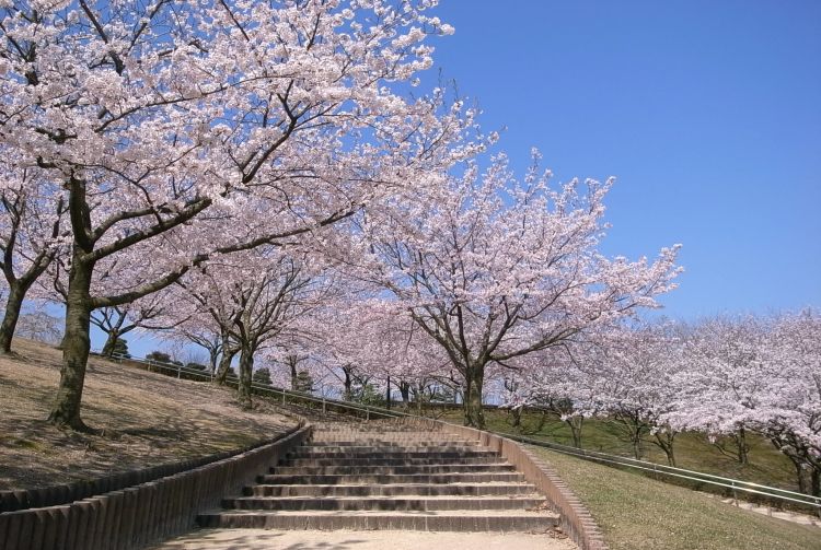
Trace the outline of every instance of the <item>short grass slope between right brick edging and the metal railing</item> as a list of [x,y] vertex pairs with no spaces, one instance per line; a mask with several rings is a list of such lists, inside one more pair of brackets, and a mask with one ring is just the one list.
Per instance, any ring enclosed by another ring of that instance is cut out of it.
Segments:
[[813,550],[821,529],[540,447],[588,506],[611,550]]

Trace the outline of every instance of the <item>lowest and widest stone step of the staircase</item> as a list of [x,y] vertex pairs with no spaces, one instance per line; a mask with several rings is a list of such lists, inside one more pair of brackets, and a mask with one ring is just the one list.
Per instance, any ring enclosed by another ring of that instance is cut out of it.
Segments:
[[420,531],[535,531],[558,525],[558,516],[543,511],[450,511],[450,512],[246,512],[201,514],[200,527],[256,529],[350,529]]

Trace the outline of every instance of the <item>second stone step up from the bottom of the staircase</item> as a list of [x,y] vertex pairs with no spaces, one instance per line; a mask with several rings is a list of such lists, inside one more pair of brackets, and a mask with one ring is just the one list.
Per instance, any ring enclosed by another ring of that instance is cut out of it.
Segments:
[[545,500],[536,494],[508,496],[242,496],[223,499],[222,506],[235,510],[527,510],[543,506]]

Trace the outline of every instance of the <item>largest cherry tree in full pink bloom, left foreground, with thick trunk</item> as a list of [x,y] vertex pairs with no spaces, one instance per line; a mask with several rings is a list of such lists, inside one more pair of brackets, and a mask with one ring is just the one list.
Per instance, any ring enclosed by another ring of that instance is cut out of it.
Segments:
[[[53,423],[85,428],[91,311],[215,253],[332,224],[470,154],[437,153],[461,136],[460,113],[392,85],[430,67],[427,35],[452,31],[427,14],[435,3],[2,4],[0,144],[66,189],[72,230]],[[161,246],[174,233],[185,246]],[[94,288],[100,262],[158,251],[175,261],[154,279]]]

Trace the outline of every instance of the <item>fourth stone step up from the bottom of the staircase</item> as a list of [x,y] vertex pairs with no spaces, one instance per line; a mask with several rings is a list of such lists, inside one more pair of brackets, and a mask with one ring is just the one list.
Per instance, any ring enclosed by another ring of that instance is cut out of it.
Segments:
[[301,473],[268,473],[257,477],[257,483],[265,484],[348,484],[348,483],[489,483],[494,481],[519,482],[524,477],[521,473],[509,472],[472,472],[472,473],[326,473],[305,476]]

